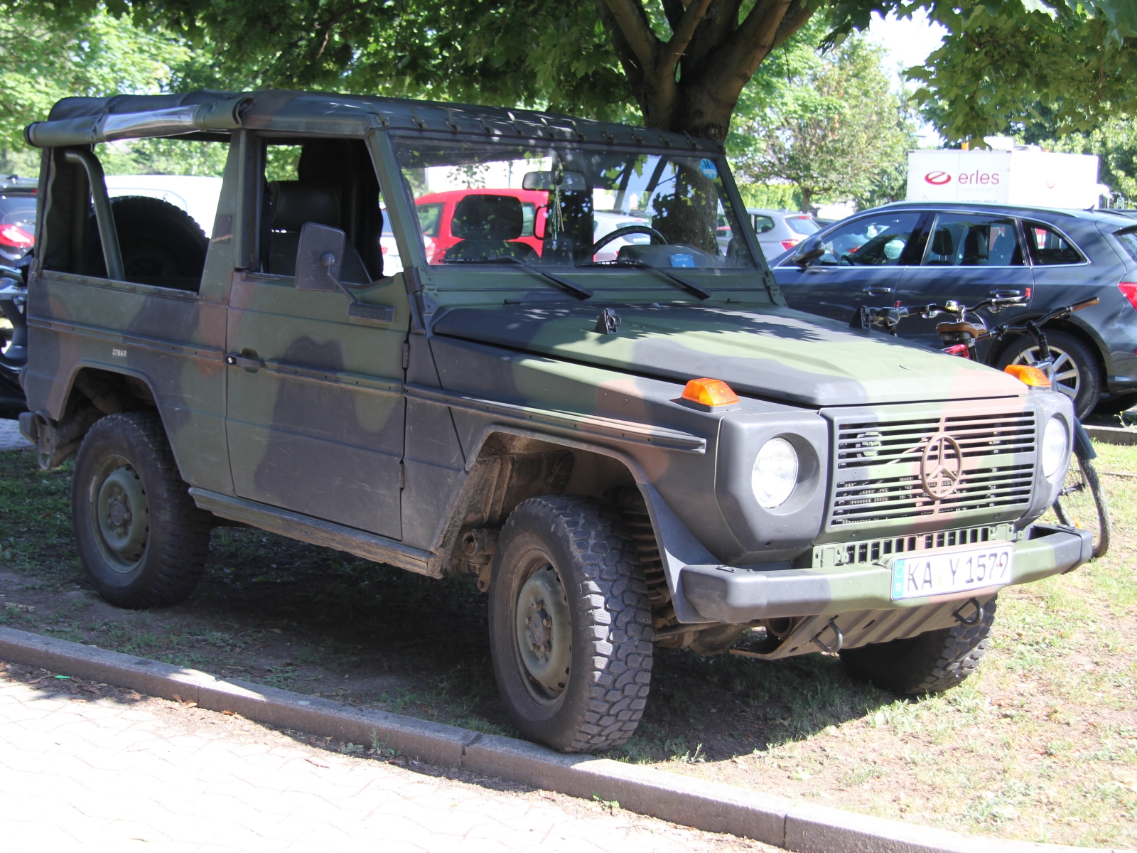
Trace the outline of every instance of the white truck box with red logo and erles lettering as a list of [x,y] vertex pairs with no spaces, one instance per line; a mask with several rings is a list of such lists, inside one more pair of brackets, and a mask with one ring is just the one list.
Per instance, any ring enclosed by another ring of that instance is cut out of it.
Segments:
[[1098,158],[1038,148],[908,152],[908,201],[1097,207]]

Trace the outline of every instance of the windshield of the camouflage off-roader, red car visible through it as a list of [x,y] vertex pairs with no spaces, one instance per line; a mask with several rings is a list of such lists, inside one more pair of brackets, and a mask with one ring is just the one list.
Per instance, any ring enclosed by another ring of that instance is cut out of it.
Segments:
[[422,138],[396,151],[434,266],[755,268],[713,159]]

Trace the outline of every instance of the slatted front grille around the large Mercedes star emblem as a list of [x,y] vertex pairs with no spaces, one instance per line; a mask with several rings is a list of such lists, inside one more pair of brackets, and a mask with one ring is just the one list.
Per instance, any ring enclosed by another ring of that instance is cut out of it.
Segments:
[[[945,524],[973,513],[994,520],[1030,504],[1034,411],[999,400],[929,408],[837,413],[830,530],[907,519]],[[921,459],[928,442],[941,433],[958,444],[962,462],[955,489],[937,499],[923,488]]]

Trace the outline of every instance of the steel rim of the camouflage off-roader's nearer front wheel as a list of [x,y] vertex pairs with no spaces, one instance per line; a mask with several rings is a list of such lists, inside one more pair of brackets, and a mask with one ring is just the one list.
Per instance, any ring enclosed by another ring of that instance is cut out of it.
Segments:
[[514,648],[529,695],[540,705],[557,703],[568,684],[572,622],[568,597],[553,562],[529,555],[524,582],[514,602]]

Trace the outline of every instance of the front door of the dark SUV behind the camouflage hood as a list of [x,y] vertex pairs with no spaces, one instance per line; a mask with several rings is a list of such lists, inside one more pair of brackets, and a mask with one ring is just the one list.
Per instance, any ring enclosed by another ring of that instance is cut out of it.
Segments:
[[798,252],[820,248],[820,257],[799,266],[790,255],[774,268],[786,301],[843,323],[861,306],[893,305],[923,216],[919,210],[877,210],[808,238]]

